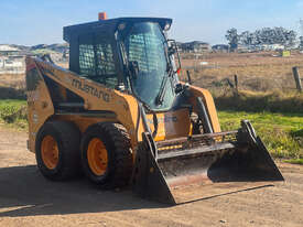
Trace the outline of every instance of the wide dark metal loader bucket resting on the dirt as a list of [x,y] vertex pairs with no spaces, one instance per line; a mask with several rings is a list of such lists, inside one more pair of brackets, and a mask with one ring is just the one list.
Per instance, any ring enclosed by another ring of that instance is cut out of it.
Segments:
[[133,191],[144,198],[181,204],[283,181],[248,121],[238,131],[154,142],[143,133]]

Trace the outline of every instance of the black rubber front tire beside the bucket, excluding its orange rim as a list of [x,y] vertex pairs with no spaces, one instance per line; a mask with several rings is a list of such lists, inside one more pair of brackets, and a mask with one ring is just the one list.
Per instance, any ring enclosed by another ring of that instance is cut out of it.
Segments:
[[[87,149],[91,139],[98,138],[106,147],[108,165],[105,174],[96,175],[89,167]],[[90,126],[82,140],[82,165],[85,175],[104,190],[123,187],[132,172],[132,150],[126,128],[119,123],[100,122]]]

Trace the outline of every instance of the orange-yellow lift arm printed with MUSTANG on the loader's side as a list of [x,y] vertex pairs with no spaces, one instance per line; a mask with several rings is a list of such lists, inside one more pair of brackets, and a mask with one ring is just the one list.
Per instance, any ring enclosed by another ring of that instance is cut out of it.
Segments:
[[[111,120],[122,123],[131,137],[132,145],[134,147],[137,144],[138,138],[136,127],[138,122],[138,102],[134,97],[111,88],[107,88],[99,83],[80,77],[71,71],[61,68],[51,63],[46,63],[41,60],[34,60],[34,62],[39,68],[41,68],[43,76],[54,80],[58,85],[82,97],[84,101],[83,107],[86,111],[102,110],[115,112],[117,117]],[[57,117],[57,109],[55,112],[55,117]],[[72,116],[75,116],[77,112],[73,112],[73,115],[64,117],[64,119],[72,120],[73,118],[75,120],[75,117]],[[83,120],[87,122],[80,122],[80,130],[87,128],[89,122],[94,122],[91,119]],[[101,119],[97,122],[100,121]]]

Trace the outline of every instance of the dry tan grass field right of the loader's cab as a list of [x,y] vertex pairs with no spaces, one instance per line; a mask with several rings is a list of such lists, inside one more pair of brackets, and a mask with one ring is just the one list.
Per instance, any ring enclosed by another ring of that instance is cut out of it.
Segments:
[[[275,55],[275,56],[274,56]],[[183,60],[185,69],[190,69],[197,86],[220,87],[225,78],[234,80],[238,76],[239,87],[247,90],[294,90],[292,67],[303,66],[303,55],[293,53],[290,57],[279,57],[278,53],[249,54],[206,54],[198,60]],[[188,58],[188,54],[183,58]],[[201,65],[207,62],[208,65]],[[183,75],[184,77],[185,75]]]

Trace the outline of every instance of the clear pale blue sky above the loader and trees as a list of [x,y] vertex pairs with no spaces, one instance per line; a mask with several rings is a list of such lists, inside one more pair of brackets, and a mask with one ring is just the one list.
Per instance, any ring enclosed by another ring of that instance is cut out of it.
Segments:
[[172,18],[171,39],[216,44],[226,43],[230,28],[299,32],[303,0],[0,0],[0,43],[63,43],[63,26],[96,21],[102,11],[108,18]]

